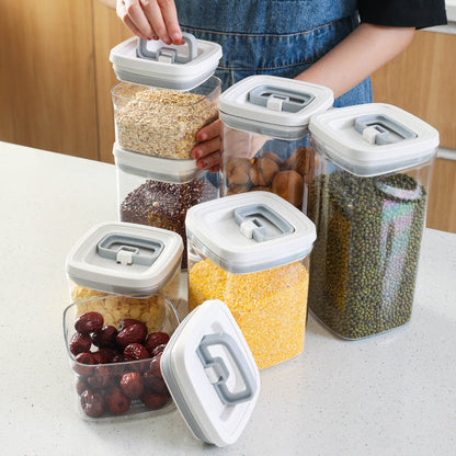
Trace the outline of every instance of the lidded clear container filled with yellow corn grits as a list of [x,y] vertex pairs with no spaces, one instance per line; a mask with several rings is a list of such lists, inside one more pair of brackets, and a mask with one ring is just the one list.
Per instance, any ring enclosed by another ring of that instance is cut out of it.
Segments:
[[304,350],[314,224],[270,192],[225,196],[186,217],[189,309],[219,299],[258,367]]

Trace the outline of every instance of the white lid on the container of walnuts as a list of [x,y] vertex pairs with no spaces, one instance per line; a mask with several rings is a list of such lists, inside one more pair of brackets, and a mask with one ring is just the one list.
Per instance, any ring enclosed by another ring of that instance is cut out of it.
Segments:
[[221,122],[236,129],[299,139],[308,133],[310,116],[327,111],[334,101],[323,86],[276,76],[255,75],[221,93]]

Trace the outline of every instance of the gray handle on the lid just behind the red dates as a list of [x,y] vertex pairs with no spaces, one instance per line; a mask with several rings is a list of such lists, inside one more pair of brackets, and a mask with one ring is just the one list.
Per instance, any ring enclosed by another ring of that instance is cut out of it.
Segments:
[[100,256],[128,266],[151,266],[162,250],[163,244],[159,241],[126,235],[107,235],[96,244]]

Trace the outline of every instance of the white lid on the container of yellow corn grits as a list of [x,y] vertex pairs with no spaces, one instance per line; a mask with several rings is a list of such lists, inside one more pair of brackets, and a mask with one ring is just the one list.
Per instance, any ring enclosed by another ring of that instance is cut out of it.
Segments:
[[317,237],[304,213],[271,192],[247,192],[197,204],[186,214],[185,229],[189,242],[236,274],[301,260]]

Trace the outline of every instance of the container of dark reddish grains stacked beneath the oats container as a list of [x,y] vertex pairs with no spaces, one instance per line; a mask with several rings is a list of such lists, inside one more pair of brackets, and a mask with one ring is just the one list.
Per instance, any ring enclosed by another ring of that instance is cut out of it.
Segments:
[[114,145],[119,220],[163,228],[184,242],[182,269],[186,269],[185,216],[195,204],[219,196],[216,174],[196,168],[195,160],[172,160],[122,149]]

